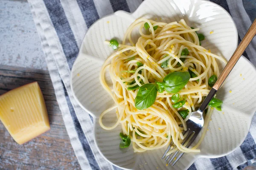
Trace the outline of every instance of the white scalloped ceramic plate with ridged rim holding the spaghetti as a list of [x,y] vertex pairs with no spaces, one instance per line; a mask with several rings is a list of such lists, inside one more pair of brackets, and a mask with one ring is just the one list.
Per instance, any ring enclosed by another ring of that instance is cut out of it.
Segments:
[[[112,99],[99,82],[102,63],[113,53],[113,49],[104,41],[115,37],[121,42],[128,26],[140,17],[166,23],[184,19],[189,26],[201,28],[200,32],[206,39],[202,41],[202,46],[227,60],[237,47],[237,30],[230,15],[209,1],[145,0],[132,14],[117,11],[96,21],[87,31],[73,65],[71,88],[79,105],[93,116],[94,140],[99,152],[112,164],[124,169],[155,170],[158,167],[160,170],[179,170],[187,169],[198,157],[216,158],[235,150],[244,141],[256,111],[256,98],[253,97],[256,96],[256,69],[244,57],[239,59],[218,91],[218,98],[224,101],[223,111],[212,114],[209,131],[200,146],[201,153],[184,154],[174,167],[166,167],[166,162],[161,159],[166,148],[144,153],[134,153],[132,147],[121,150],[121,127],[104,130],[99,126],[99,115],[113,106]],[[137,37],[135,33],[134,37]],[[115,121],[116,113],[110,113],[103,119],[105,124]]]

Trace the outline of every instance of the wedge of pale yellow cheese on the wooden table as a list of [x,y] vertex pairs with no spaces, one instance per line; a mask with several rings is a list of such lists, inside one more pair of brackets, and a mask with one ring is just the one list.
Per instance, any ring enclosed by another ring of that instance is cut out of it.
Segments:
[[0,96],[0,120],[18,144],[49,130],[48,114],[38,82]]

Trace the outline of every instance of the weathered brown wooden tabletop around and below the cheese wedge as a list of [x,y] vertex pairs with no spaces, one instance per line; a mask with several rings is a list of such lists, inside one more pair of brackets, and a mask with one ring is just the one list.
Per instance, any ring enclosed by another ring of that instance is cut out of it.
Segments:
[[1,170],[78,170],[48,71],[0,65],[0,95],[37,81],[47,106],[51,130],[23,145],[0,122]]

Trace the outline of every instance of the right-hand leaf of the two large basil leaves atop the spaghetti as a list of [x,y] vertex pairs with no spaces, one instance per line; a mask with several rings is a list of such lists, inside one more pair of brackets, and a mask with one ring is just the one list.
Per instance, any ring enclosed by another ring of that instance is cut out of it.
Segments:
[[190,74],[189,72],[176,71],[168,74],[163,82],[156,82],[159,88],[164,88],[168,93],[175,94],[185,87],[189,82]]

